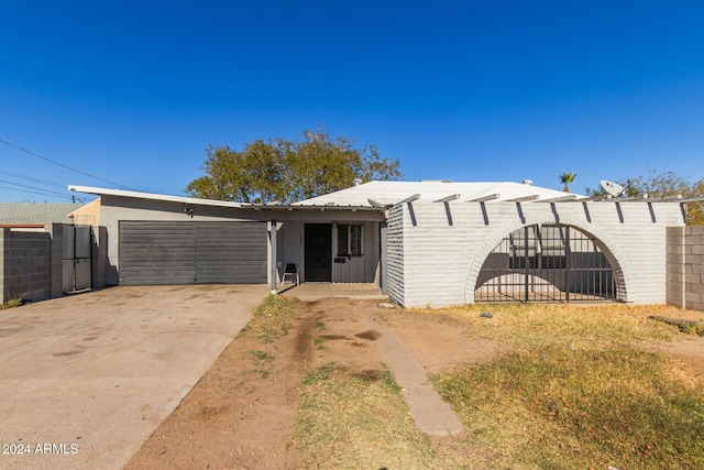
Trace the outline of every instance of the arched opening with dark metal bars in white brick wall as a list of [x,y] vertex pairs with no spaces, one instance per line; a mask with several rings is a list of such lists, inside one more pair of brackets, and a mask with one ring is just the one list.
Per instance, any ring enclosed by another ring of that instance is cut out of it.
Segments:
[[615,300],[616,282],[593,237],[569,226],[512,232],[486,258],[475,302]]

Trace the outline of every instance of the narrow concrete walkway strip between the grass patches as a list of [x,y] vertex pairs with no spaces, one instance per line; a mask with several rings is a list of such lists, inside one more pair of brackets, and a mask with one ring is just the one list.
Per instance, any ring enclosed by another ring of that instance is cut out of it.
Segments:
[[366,324],[370,329],[381,332],[377,341],[382,357],[402,386],[418,429],[433,436],[452,436],[464,430],[462,423],[438,395],[422,365],[400,337],[378,321],[366,320]]

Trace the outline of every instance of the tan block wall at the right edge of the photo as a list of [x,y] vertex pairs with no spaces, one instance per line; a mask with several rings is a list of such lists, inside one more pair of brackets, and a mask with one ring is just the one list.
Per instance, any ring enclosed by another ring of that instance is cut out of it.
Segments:
[[704,227],[668,229],[668,304],[704,310]]

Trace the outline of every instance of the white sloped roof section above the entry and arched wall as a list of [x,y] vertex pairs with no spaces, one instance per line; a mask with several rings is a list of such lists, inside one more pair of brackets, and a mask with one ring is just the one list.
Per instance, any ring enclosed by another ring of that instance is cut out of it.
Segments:
[[[394,205],[405,199],[420,200],[499,200],[516,201],[581,198],[561,190],[521,183],[453,183],[453,182],[370,182],[323,196],[295,203],[294,206],[374,206]],[[530,198],[532,196],[532,198]]]

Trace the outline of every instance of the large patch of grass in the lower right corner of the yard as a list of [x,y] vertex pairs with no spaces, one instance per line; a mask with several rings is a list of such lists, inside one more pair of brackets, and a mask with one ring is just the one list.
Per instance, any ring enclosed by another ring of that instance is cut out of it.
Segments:
[[667,356],[561,345],[435,376],[491,468],[704,468],[704,393]]

